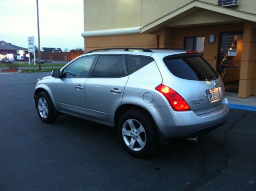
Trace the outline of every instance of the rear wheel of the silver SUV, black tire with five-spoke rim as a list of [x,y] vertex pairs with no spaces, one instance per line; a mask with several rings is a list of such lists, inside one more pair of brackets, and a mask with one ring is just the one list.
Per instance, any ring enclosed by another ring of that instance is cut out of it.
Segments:
[[122,145],[134,157],[148,157],[159,147],[156,125],[152,117],[143,110],[124,113],[117,128]]

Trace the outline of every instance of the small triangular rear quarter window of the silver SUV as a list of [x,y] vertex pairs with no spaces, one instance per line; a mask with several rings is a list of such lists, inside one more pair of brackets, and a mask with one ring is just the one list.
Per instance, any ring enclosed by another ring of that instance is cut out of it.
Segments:
[[145,67],[152,61],[154,61],[154,59],[149,56],[126,55],[128,74],[132,74],[142,67]]

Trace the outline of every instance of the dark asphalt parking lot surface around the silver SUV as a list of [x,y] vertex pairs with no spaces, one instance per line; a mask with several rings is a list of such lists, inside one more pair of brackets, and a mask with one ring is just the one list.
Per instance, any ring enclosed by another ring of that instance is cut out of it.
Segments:
[[0,190],[256,190],[256,112],[231,110],[198,143],[173,140],[148,159],[128,155],[116,130],[36,114],[36,79],[0,73]]

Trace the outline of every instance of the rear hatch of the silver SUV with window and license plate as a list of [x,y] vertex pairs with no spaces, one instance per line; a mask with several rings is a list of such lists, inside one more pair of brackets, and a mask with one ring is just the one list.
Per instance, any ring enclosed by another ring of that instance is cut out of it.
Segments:
[[222,107],[223,81],[199,54],[176,54],[165,57],[163,61],[172,74],[171,78],[167,77],[165,85],[179,93],[196,115]]

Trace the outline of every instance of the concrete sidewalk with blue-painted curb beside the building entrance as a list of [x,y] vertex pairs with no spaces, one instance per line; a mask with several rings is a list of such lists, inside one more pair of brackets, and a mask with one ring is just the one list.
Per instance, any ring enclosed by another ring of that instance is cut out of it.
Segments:
[[256,96],[239,98],[238,93],[225,93],[229,102],[229,107],[233,109],[256,111]]

